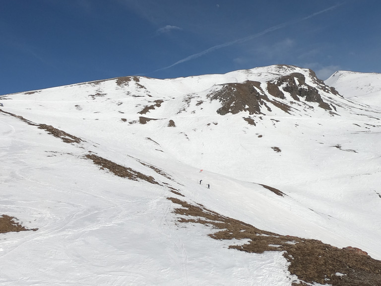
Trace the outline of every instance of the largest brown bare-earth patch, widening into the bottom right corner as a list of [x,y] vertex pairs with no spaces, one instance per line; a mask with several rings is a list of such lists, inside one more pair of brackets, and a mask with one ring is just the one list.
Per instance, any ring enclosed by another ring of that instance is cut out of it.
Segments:
[[[249,253],[282,251],[290,263],[289,271],[300,280],[310,284],[333,286],[381,286],[381,261],[356,251],[340,249],[315,239],[279,235],[260,230],[253,225],[191,205],[177,198],[168,198],[180,205],[174,210],[179,222],[201,223],[215,231],[213,239],[249,239],[243,245],[231,245]],[[340,274],[339,276],[336,275]],[[306,285],[293,283],[293,286]]]

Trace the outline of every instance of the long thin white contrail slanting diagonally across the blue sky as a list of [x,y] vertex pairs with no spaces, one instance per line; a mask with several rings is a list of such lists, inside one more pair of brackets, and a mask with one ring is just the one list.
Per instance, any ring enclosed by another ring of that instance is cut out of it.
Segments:
[[[225,47],[229,47],[229,46],[232,46],[232,45],[234,45],[234,44],[244,43],[244,42],[253,40],[253,39],[257,38],[257,37],[263,36],[263,35],[265,35],[265,34],[267,34],[267,33],[272,32],[272,31],[276,31],[276,30],[279,30],[279,29],[281,29],[281,28],[284,28],[284,27],[290,25],[291,23],[298,23],[298,22],[301,22],[301,21],[304,21],[304,20],[313,18],[313,17],[315,17],[315,16],[317,16],[317,15],[319,15],[319,14],[321,14],[321,13],[324,13],[324,12],[327,12],[327,11],[330,11],[330,10],[333,10],[333,9],[335,9],[335,8],[337,8],[338,6],[341,6],[341,5],[342,5],[342,3],[339,3],[339,4],[336,4],[336,5],[331,6],[331,7],[329,7],[329,8],[326,8],[326,9],[324,9],[324,10],[315,12],[315,13],[313,13],[313,14],[307,16],[307,17],[304,17],[304,18],[301,18],[301,19],[298,19],[298,20],[294,20],[294,21],[284,22],[284,23],[282,23],[282,24],[279,24],[279,25],[276,25],[276,26],[272,26],[272,27],[270,27],[270,28],[267,28],[267,29],[265,29],[265,30],[263,30],[263,31],[261,31],[261,32],[259,32],[259,33],[254,34],[254,35],[250,35],[250,36],[247,36],[247,37],[245,37],[245,38],[241,38],[241,39],[238,39],[238,40],[235,40],[235,41],[231,41],[231,42],[227,42],[227,43],[220,44],[220,45],[217,45],[217,46],[213,46],[213,47],[211,47],[211,48],[209,48],[209,49],[203,50],[202,52],[193,54],[193,55],[191,55],[191,56],[188,56],[187,58],[184,58],[184,59],[182,59],[182,60],[180,60],[180,61],[177,61],[176,63],[174,63],[174,64],[172,64],[172,65],[170,65],[170,66],[168,66],[168,67],[164,67],[164,68],[158,69],[158,70],[156,70],[156,71],[167,70],[167,69],[170,69],[170,68],[172,68],[172,67],[174,67],[174,66],[177,66],[177,65],[179,65],[179,64],[182,64],[182,63],[188,62],[188,61],[190,61],[190,60],[199,58],[199,57],[201,57],[201,56],[203,56],[203,55],[205,55],[205,54],[208,54],[208,53],[210,53],[210,52],[213,52],[213,51],[215,51],[215,50],[218,50],[218,49],[221,49],[221,48],[225,48]],[[156,71],[153,71],[153,72],[156,72]]]

